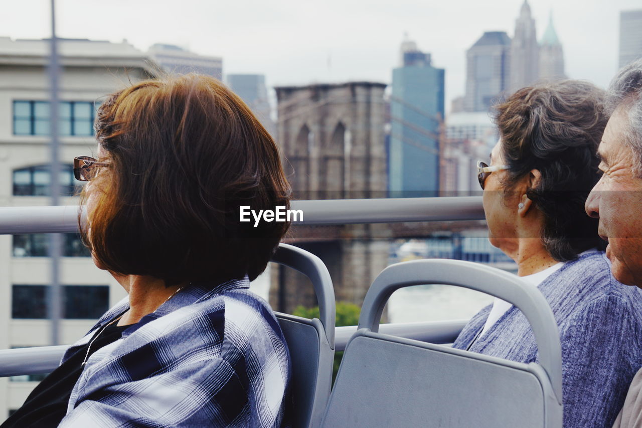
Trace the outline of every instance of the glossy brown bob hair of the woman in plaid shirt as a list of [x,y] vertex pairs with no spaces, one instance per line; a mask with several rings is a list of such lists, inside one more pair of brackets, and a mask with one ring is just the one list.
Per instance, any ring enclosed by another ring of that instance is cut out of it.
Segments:
[[81,230],[101,267],[168,286],[265,270],[290,224],[254,227],[239,207],[288,210],[290,186],[277,145],[236,94],[209,76],[145,80],[108,96],[94,127],[109,167],[90,184],[89,239]]

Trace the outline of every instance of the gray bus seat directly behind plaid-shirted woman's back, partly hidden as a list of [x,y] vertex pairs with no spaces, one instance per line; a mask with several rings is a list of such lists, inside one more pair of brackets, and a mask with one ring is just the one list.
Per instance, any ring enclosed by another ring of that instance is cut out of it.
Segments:
[[293,428],[320,426],[332,385],[334,288],[320,258],[293,245],[279,244],[272,262],[308,276],[317,294],[319,318],[276,313],[290,350],[294,397]]

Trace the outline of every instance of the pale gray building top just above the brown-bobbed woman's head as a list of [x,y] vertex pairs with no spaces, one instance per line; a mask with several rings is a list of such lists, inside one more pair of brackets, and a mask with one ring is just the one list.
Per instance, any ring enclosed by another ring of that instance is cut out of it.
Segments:
[[147,52],[148,56],[166,73],[198,73],[223,79],[223,59],[198,55],[173,44],[157,43]]

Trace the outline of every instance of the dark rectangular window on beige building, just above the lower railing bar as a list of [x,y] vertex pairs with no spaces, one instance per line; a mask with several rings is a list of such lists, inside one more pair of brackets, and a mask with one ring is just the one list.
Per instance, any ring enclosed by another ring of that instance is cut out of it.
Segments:
[[[109,307],[108,285],[63,285],[62,317],[98,319]],[[49,285],[12,286],[13,319],[47,319]]]

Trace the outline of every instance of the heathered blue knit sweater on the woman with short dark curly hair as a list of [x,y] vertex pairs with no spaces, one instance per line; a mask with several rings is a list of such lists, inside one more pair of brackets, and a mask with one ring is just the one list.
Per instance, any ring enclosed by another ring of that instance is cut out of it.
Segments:
[[[616,281],[607,258],[598,251],[565,263],[539,290],[560,330],[564,428],[611,427],[631,379],[642,367],[642,290]],[[466,349],[489,312],[490,306],[476,314],[453,346]],[[470,350],[538,362],[535,337],[516,307],[501,316]]]

